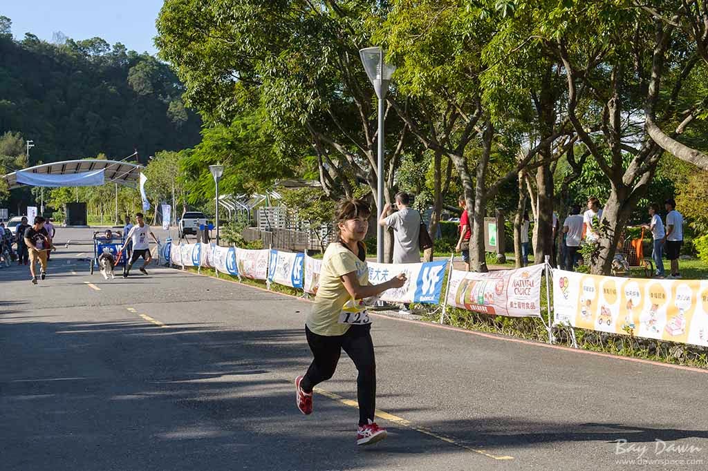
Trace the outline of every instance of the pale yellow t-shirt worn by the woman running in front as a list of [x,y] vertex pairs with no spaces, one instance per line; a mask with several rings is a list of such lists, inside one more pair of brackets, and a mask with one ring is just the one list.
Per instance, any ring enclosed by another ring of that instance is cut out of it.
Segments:
[[[317,335],[344,335],[349,324],[340,324],[339,314],[346,304],[356,304],[342,283],[341,276],[356,272],[359,284],[369,284],[369,267],[343,244],[329,244],[324,252],[319,274],[319,288],[314,306],[307,316],[307,327]],[[349,302],[351,301],[351,302]]]

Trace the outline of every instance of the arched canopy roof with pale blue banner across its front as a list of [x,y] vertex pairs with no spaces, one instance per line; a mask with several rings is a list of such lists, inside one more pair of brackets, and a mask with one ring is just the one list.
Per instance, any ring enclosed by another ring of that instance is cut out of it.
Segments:
[[4,175],[10,189],[35,187],[91,187],[105,183],[137,186],[142,165],[123,161],[87,158],[79,161],[45,163]]

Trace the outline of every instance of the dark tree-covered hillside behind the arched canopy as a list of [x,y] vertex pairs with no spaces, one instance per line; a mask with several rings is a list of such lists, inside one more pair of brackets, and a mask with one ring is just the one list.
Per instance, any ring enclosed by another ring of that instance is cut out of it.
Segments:
[[55,43],[31,33],[16,40],[11,20],[0,17],[0,135],[35,142],[28,165],[135,149],[146,163],[156,151],[195,146],[201,120],[185,108],[183,91],[147,53],[61,33]]

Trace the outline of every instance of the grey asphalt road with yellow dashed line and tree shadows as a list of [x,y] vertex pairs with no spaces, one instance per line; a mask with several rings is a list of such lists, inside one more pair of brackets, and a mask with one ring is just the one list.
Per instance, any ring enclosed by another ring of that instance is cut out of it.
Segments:
[[295,407],[307,301],[167,268],[105,281],[60,245],[89,233],[59,229],[38,286],[0,269],[2,470],[708,469],[706,372],[382,315],[389,438],[358,448],[346,354]]

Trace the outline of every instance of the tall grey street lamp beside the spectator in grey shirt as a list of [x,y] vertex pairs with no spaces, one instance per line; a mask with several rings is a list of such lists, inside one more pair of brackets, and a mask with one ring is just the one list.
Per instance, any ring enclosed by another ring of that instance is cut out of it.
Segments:
[[381,210],[384,207],[384,103],[389,93],[389,81],[396,70],[396,66],[384,62],[384,50],[381,47],[366,47],[359,51],[361,62],[364,64],[369,80],[374,86],[379,99],[379,146],[377,162],[377,195],[376,195],[376,261],[384,262],[384,228],[379,225]]

